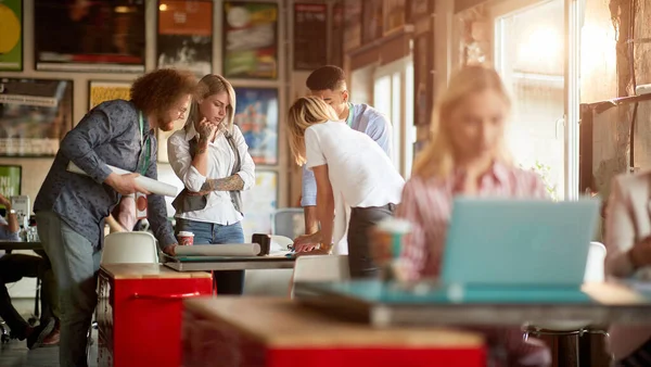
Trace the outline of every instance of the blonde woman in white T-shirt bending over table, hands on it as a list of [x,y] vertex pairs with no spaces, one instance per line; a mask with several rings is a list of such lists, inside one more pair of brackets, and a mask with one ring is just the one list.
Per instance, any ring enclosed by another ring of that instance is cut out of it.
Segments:
[[[299,98],[290,109],[288,124],[296,163],[306,164],[317,180],[317,216],[326,241],[318,251],[347,252],[353,278],[376,275],[368,231],[393,216],[405,180],[376,142],[340,121],[319,98]],[[314,248],[301,244],[295,250]]]

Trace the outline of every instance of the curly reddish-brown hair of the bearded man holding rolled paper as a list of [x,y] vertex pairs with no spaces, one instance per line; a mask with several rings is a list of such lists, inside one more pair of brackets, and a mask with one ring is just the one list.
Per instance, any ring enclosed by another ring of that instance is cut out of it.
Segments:
[[139,77],[131,85],[131,101],[144,113],[161,113],[181,97],[193,94],[196,77],[188,71],[161,68]]

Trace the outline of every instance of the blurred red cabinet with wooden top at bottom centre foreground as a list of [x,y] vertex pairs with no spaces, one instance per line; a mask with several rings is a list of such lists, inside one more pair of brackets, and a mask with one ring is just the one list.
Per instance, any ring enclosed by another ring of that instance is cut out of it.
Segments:
[[485,366],[481,336],[444,328],[372,329],[288,299],[187,300],[183,366]]

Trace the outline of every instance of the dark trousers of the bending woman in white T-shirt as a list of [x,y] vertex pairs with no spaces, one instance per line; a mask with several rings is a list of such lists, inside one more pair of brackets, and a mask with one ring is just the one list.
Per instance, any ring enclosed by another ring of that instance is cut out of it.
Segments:
[[369,230],[385,218],[393,217],[395,204],[371,207],[353,207],[348,223],[348,266],[350,278],[373,278],[379,268],[370,252]]

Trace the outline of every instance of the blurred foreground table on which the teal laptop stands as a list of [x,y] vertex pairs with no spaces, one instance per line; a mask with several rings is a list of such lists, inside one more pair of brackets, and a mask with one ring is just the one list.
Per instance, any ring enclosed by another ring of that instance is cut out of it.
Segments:
[[[585,300],[565,301],[561,298],[535,302],[526,296],[523,301],[468,302],[446,295],[432,298],[425,293],[422,300],[418,300],[418,293],[411,293],[409,300],[403,302],[404,292],[392,287],[374,281],[296,283],[294,294],[306,305],[375,327],[422,326],[423,322],[430,326],[499,324],[520,327],[547,320],[573,324],[585,320],[586,325],[651,325],[651,298],[617,283],[586,283],[582,287]],[[574,292],[580,293],[578,290]]]

